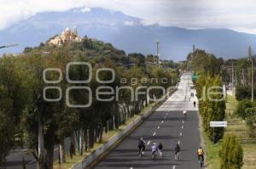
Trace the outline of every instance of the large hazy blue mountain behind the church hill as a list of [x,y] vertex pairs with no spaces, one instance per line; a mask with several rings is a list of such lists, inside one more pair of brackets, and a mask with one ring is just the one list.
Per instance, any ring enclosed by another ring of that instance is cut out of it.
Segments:
[[160,40],[160,57],[182,60],[196,48],[224,58],[245,56],[249,45],[256,45],[256,35],[228,29],[189,30],[179,27],[143,25],[142,20],[102,8],[73,8],[65,12],[35,14],[0,31],[0,46],[17,42],[20,46],[3,48],[3,53],[20,53],[27,46],[38,46],[67,26],[77,27],[80,36],[111,42],[126,53],[155,54]]

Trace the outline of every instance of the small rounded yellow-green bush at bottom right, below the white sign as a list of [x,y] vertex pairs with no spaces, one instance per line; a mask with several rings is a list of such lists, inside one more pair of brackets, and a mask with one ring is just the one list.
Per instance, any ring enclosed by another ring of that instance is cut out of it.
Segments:
[[220,169],[240,169],[243,150],[235,135],[225,135],[221,149],[218,152]]

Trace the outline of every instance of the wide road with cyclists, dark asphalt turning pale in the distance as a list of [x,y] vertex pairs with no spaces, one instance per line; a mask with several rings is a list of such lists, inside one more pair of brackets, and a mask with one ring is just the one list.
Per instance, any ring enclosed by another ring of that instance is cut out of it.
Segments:
[[[183,75],[177,86],[177,92],[173,93],[172,97],[167,99],[153,115],[150,115],[140,127],[98,163],[95,169],[200,168],[196,150],[201,144],[201,137],[197,106],[193,105],[196,99],[194,97],[189,100],[190,93],[195,92],[189,90],[190,84],[192,84],[190,75]],[[183,110],[188,112],[185,121],[183,121]],[[137,142],[142,137],[147,147],[143,157],[139,157]],[[150,152],[150,146],[154,143],[164,145],[163,156],[158,155],[156,161],[152,160]],[[181,147],[180,160],[174,161],[173,149],[177,143]]]

